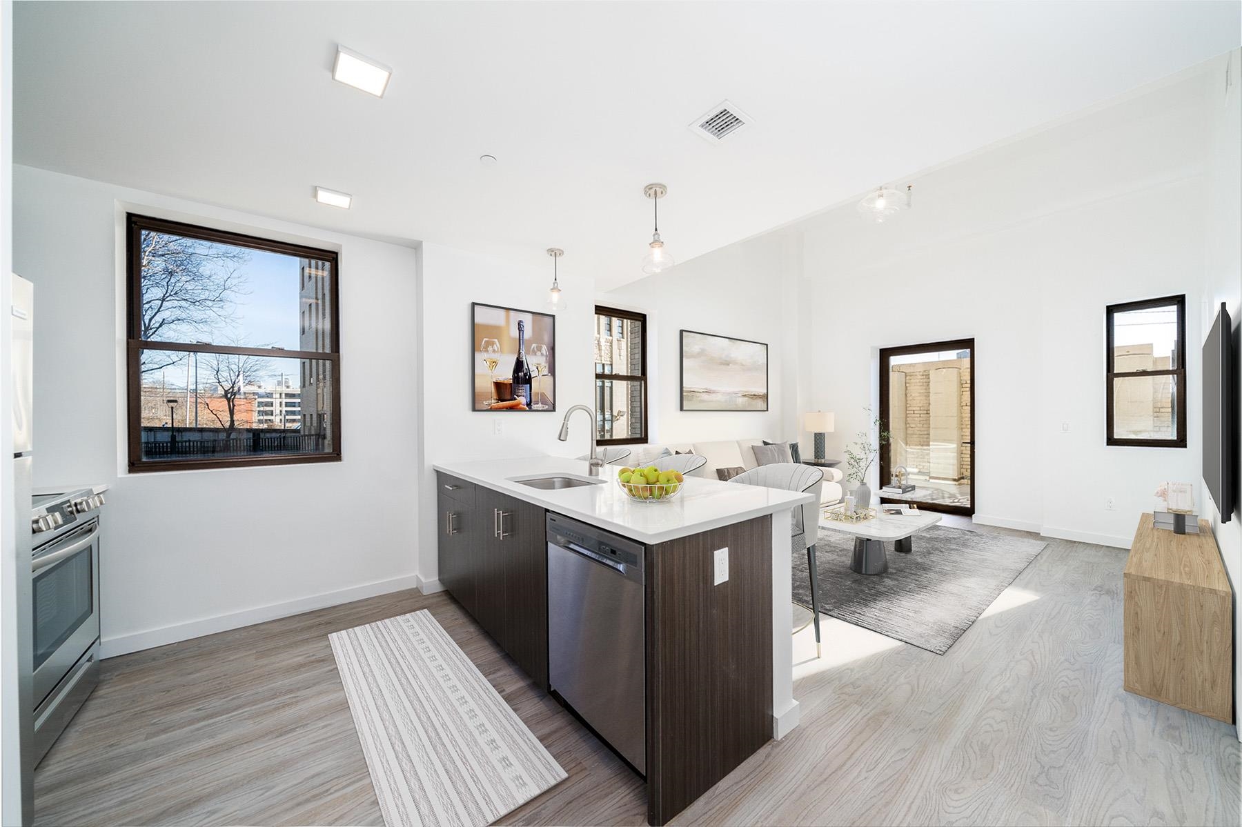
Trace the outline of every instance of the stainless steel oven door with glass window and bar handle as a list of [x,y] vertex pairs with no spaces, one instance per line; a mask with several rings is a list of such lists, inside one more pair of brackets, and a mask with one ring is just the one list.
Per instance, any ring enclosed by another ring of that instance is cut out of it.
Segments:
[[99,638],[99,520],[36,549],[30,567],[39,707]]

